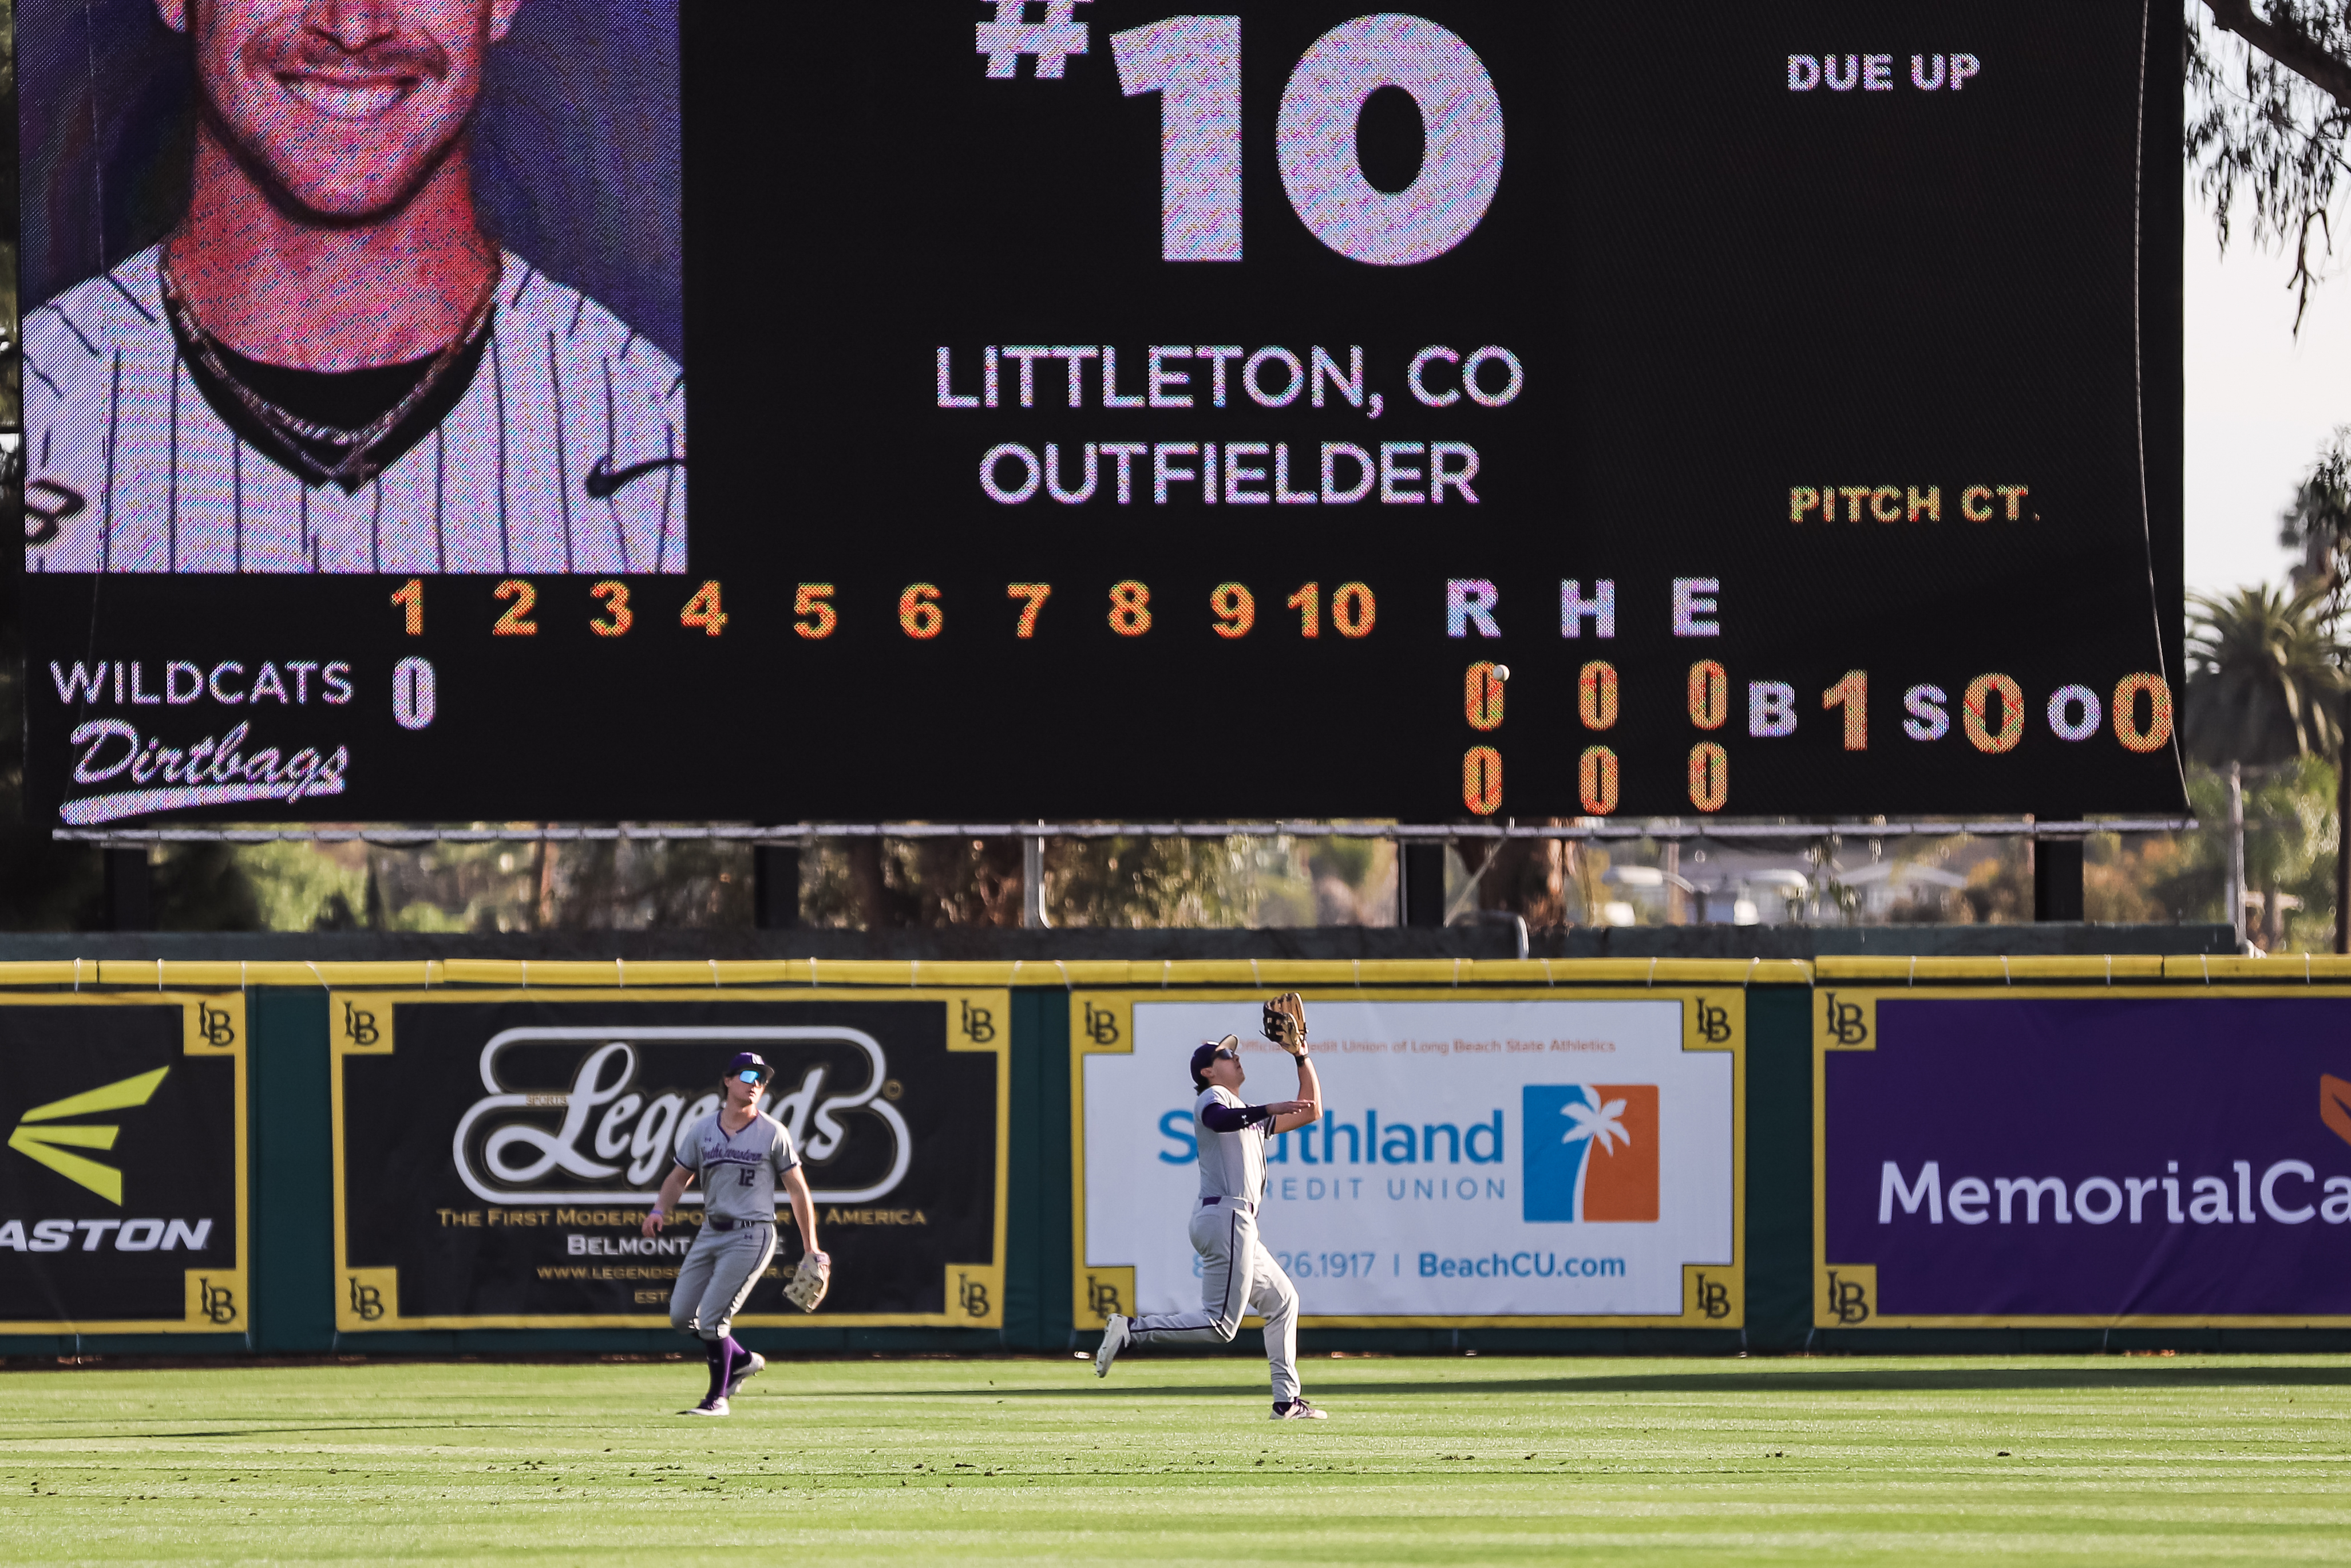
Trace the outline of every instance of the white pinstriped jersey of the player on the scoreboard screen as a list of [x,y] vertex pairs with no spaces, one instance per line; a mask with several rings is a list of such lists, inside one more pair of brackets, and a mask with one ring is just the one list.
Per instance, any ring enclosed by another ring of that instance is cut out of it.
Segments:
[[28,571],[686,569],[684,374],[581,292],[505,254],[465,395],[346,494],[212,411],[155,261],[24,320]]

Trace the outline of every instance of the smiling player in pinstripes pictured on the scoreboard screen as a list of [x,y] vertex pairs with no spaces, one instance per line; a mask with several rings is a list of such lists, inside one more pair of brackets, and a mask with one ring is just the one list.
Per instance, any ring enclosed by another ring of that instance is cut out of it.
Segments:
[[501,249],[468,120],[522,0],[155,0],[179,228],[24,320],[28,571],[684,571],[684,376]]

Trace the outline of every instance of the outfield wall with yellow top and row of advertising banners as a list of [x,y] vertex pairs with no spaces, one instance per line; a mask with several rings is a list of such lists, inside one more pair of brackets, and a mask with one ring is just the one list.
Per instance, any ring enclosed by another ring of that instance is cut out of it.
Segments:
[[1067,1352],[1272,990],[1314,1349],[2351,1349],[2346,959],[108,959],[0,964],[0,1354],[675,1349],[630,1201],[762,1041],[839,1276],[743,1338]]

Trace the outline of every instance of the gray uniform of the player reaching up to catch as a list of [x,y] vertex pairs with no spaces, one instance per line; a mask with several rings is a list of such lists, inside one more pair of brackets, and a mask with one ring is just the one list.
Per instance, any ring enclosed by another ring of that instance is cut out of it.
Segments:
[[1136,1342],[1230,1345],[1241,1331],[1244,1302],[1265,1319],[1265,1361],[1274,1399],[1298,1399],[1298,1286],[1258,1241],[1265,1197],[1265,1140],[1272,1112],[1244,1105],[1230,1088],[1204,1088],[1192,1100],[1199,1140],[1199,1204],[1192,1208],[1192,1251],[1199,1253],[1199,1312],[1133,1319]]

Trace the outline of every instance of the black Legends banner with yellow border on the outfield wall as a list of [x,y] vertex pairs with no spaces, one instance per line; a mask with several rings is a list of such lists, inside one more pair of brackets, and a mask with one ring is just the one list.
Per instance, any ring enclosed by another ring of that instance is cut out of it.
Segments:
[[701,1187],[639,1234],[736,1051],[816,1197],[832,1293],[783,1300],[799,1232],[736,1316],[999,1328],[1011,1011],[1002,990],[336,992],[336,1326],[658,1328]]

